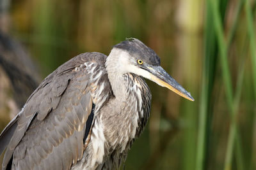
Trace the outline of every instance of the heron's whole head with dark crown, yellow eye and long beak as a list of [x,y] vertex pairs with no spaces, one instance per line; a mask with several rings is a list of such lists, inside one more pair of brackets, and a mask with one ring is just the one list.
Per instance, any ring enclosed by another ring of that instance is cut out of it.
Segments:
[[109,54],[107,65],[111,65],[112,69],[121,74],[134,73],[143,76],[190,101],[194,101],[189,92],[160,66],[160,59],[154,50],[136,38],[129,38],[115,45]]

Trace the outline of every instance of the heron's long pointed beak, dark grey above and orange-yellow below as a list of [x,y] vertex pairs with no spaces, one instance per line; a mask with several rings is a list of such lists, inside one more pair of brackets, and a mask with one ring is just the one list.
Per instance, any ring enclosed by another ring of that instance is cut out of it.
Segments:
[[191,94],[187,92],[179,83],[172,78],[166,71],[164,71],[161,66],[146,66],[147,70],[150,72],[150,80],[156,82],[158,85],[167,87],[173,92],[179,94],[189,101],[195,101]]

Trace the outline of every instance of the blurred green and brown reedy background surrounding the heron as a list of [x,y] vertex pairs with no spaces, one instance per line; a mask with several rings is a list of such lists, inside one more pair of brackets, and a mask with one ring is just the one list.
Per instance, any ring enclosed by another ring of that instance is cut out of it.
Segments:
[[255,10],[255,0],[0,0],[0,128],[63,62],[134,37],[195,102],[147,81],[152,112],[125,169],[256,169]]

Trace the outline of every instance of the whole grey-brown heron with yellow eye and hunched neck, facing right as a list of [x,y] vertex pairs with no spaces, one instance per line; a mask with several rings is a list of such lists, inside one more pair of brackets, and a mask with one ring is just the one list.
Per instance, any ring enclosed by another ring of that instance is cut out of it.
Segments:
[[3,169],[120,167],[150,113],[142,77],[194,101],[138,39],[108,57],[82,53],[49,74],[1,133]]

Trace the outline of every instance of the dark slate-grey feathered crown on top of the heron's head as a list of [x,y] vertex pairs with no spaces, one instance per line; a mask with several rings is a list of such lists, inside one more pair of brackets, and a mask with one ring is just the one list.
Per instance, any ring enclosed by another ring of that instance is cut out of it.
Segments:
[[143,62],[147,62],[147,64],[151,64],[152,66],[160,65],[160,59],[156,52],[143,44],[139,39],[127,38],[125,41],[115,45],[114,48],[125,50],[132,57],[141,59]]

